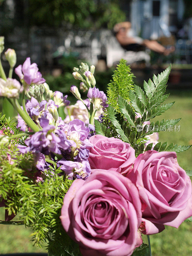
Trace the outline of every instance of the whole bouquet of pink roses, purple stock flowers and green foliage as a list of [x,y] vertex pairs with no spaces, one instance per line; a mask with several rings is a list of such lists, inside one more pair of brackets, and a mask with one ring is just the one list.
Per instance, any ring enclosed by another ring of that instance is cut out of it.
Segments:
[[30,227],[49,255],[129,256],[150,255],[144,235],[191,221],[192,172],[176,156],[190,146],[157,141],[180,118],[151,122],[174,104],[163,104],[171,66],[141,89],[121,60],[106,96],[95,67],[81,63],[73,76],[87,98],[71,86],[77,102],[70,105],[30,58],[15,68],[19,82],[15,51],[5,57],[10,72],[7,78],[0,62],[0,96],[18,118],[0,116],[1,224]]

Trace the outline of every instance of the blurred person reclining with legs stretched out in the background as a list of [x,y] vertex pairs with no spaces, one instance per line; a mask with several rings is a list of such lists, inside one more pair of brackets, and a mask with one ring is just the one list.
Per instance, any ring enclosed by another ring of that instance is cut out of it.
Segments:
[[147,47],[151,51],[158,52],[164,55],[169,55],[175,50],[174,46],[166,49],[157,41],[142,39],[141,37],[133,36],[133,31],[131,30],[131,22],[125,21],[117,23],[113,29],[117,41],[126,51],[138,52],[145,50],[145,47]]

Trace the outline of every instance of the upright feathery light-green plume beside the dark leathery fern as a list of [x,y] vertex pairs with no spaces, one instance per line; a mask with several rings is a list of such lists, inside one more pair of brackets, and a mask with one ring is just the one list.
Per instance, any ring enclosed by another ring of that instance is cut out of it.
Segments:
[[127,66],[126,60],[121,59],[113,74],[113,80],[108,84],[107,96],[108,103],[118,110],[117,98],[122,96],[129,100],[129,91],[133,89],[133,73],[130,66]]

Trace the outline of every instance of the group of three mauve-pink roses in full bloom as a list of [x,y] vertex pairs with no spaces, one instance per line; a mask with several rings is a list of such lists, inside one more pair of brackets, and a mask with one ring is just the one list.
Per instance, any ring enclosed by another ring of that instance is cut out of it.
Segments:
[[129,143],[89,139],[91,176],[75,180],[64,197],[61,222],[84,256],[129,256],[141,233],[178,228],[192,215],[192,186],[175,152],[147,151],[135,158]]

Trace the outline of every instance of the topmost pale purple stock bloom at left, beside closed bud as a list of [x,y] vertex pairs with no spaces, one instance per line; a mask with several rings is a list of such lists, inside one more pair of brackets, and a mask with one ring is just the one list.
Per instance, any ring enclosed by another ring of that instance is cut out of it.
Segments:
[[31,64],[30,58],[27,58],[22,65],[15,68],[15,73],[19,76],[20,80],[26,82],[26,84],[43,84],[45,79],[42,74],[38,71],[36,63]]

